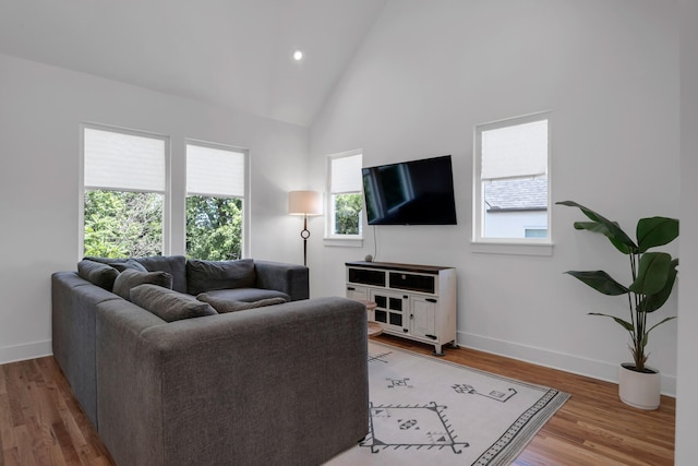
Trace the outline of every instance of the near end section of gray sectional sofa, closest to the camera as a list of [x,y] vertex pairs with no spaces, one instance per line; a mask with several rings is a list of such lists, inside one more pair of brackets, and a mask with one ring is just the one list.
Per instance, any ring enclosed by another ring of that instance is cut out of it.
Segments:
[[99,434],[117,464],[324,463],[369,430],[365,325],[345,298],[147,328],[100,304]]

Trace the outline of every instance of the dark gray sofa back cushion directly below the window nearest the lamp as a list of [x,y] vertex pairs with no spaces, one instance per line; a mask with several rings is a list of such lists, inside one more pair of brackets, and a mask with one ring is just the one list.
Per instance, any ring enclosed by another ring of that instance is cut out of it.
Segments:
[[215,289],[253,288],[256,283],[254,261],[186,261],[186,288],[190,295]]

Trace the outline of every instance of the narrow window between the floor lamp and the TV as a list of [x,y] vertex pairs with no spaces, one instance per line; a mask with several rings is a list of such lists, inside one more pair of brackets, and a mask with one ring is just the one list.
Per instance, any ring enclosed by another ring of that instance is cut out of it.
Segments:
[[360,239],[361,211],[361,151],[345,152],[328,157],[327,169],[327,237]]

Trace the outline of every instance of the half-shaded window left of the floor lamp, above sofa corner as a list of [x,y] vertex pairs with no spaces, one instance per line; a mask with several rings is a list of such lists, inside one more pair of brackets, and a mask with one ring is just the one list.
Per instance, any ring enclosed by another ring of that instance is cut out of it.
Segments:
[[246,152],[186,144],[186,256],[242,258]]

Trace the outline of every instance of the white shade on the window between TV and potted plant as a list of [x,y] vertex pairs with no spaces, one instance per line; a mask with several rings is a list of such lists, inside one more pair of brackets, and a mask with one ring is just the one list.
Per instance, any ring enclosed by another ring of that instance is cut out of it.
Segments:
[[482,179],[547,172],[547,120],[482,131]]

